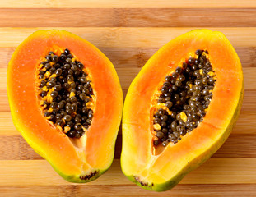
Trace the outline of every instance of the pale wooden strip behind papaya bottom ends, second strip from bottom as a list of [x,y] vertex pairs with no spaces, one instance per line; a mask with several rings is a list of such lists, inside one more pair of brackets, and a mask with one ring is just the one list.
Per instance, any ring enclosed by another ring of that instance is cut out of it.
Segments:
[[[119,162],[114,159],[105,175],[86,185],[133,185],[121,172]],[[210,158],[180,184],[255,184],[255,165],[256,158]],[[64,181],[45,160],[2,160],[0,172],[1,186],[77,185]]]

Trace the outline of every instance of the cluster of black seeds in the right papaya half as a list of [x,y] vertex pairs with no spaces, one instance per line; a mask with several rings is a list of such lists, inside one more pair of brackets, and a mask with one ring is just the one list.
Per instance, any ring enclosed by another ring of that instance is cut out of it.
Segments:
[[216,80],[211,62],[206,57],[208,52],[198,49],[195,53],[198,58],[190,57],[165,77],[157,103],[164,103],[166,108],[158,108],[153,118],[156,146],[177,143],[206,115]]

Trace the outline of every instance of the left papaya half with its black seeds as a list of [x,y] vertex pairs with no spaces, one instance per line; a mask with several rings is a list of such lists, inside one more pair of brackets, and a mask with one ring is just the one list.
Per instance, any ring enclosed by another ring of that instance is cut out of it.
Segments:
[[113,64],[64,30],[39,30],[7,69],[16,129],[67,181],[95,180],[111,165],[123,110]]

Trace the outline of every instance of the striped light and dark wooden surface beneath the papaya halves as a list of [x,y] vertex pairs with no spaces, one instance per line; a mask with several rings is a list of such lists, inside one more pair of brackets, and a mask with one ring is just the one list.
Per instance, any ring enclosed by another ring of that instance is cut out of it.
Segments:
[[[134,185],[119,165],[88,184],[64,181],[21,137],[7,102],[7,63],[23,39],[63,29],[87,39],[114,63],[125,95],[158,48],[196,28],[220,30],[244,70],[244,103],[234,131],[206,163],[174,189],[156,193]],[[256,2],[25,0],[0,1],[0,196],[256,196]]]

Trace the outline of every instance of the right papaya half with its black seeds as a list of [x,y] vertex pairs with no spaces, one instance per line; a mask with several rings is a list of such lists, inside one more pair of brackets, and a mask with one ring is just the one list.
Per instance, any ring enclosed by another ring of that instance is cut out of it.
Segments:
[[125,98],[124,175],[147,190],[174,187],[225,142],[243,94],[240,59],[221,32],[193,30],[165,44]]

